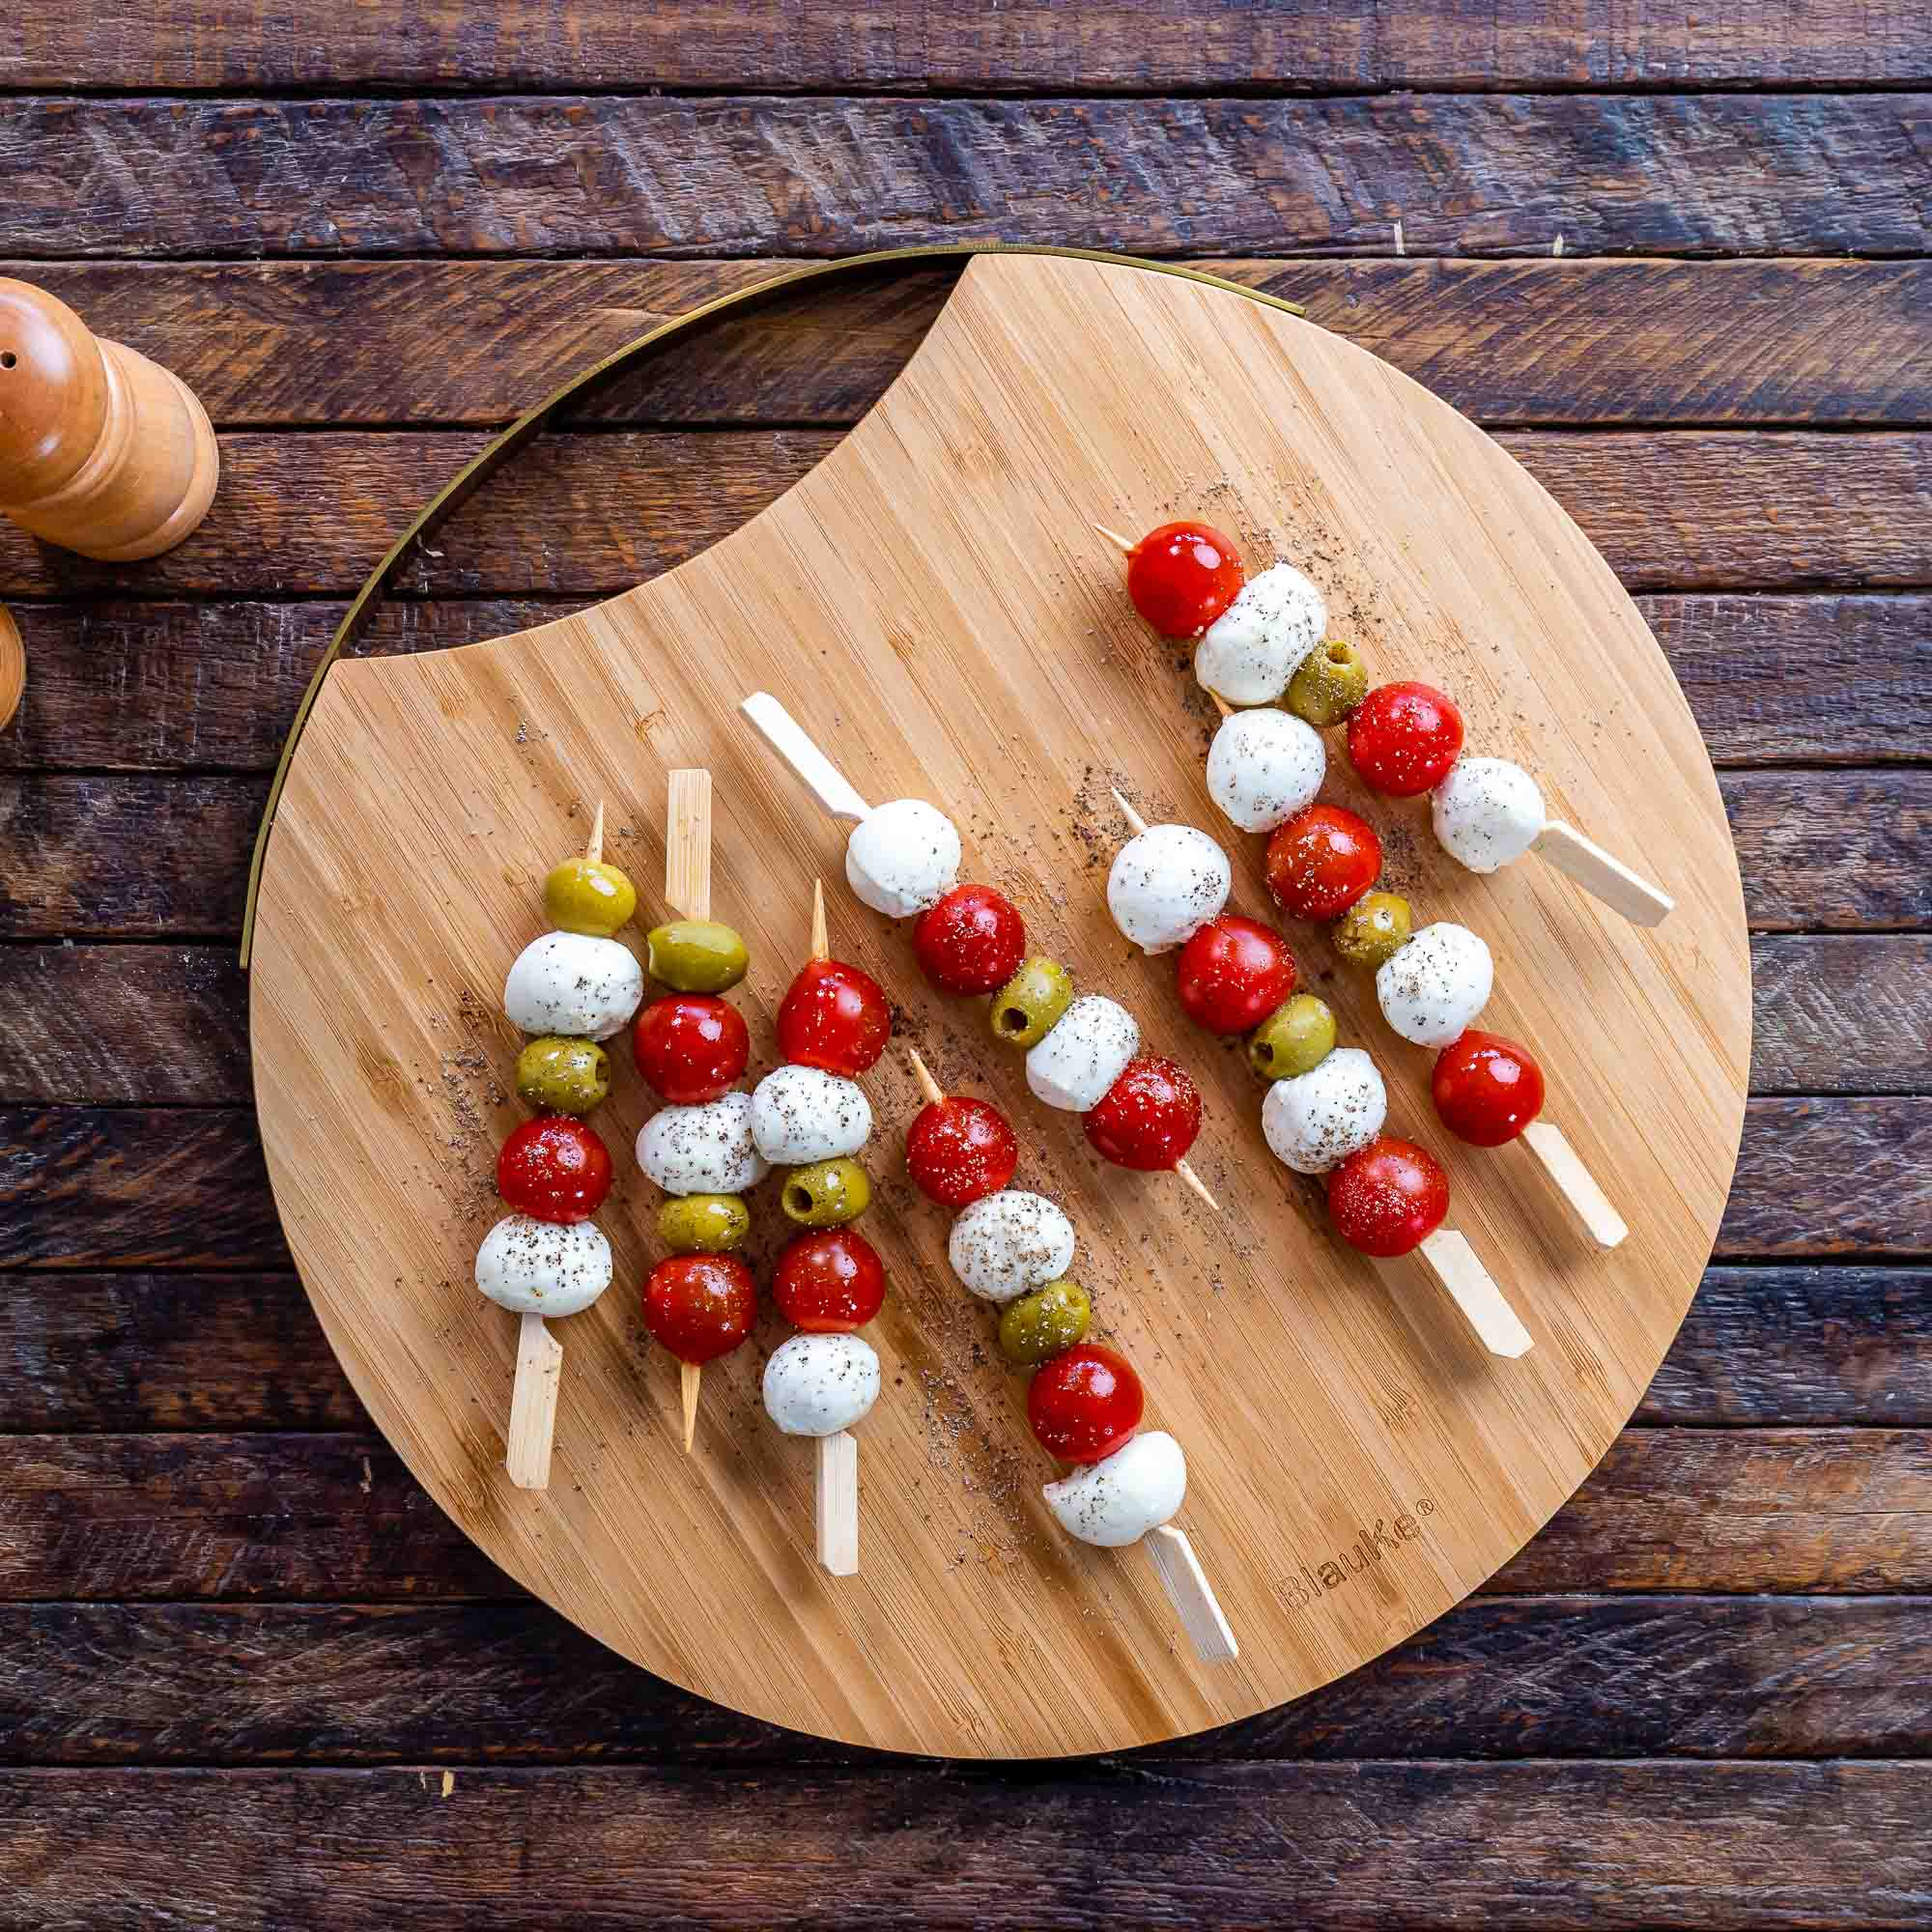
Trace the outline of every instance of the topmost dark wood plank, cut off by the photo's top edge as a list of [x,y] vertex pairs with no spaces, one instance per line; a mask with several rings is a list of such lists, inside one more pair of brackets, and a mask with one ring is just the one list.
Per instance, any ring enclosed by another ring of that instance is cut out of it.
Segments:
[[945,0],[850,12],[821,0],[701,0],[674,12],[541,0],[423,14],[384,0],[290,33],[261,0],[122,6],[60,31],[21,15],[14,87],[236,91],[433,89],[958,89],[1171,93],[1198,87],[1876,85],[1932,75],[1901,0],[1776,0],[1712,19],[1683,0],[1642,14],[1551,12],[1532,0],[1101,0],[997,10]]

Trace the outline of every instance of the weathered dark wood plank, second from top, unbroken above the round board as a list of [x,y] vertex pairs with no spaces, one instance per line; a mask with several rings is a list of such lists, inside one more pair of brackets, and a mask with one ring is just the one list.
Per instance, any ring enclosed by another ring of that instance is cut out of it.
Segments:
[[[1913,255],[1915,95],[25,97],[0,253]],[[344,166],[342,156],[355,156]]]

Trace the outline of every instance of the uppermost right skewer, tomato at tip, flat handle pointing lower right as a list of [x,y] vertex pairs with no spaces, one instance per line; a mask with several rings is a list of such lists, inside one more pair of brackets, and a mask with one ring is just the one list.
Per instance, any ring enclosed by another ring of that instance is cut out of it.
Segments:
[[1463,755],[1463,715],[1428,684],[1368,688],[1352,643],[1327,639],[1321,591],[1293,564],[1248,578],[1208,524],[1161,524],[1140,543],[1094,526],[1126,556],[1134,609],[1163,638],[1194,641],[1194,676],[1225,709],[1283,705],[1314,726],[1345,724],[1364,782],[1391,798],[1430,794],[1441,848],[1470,871],[1536,852],[1636,925],[1673,900],[1575,825],[1551,819],[1536,781],[1505,757]]

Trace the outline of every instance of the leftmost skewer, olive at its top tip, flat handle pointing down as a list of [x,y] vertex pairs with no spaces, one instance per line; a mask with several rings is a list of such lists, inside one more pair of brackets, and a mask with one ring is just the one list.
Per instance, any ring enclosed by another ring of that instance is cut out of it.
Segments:
[[520,1490],[547,1490],[564,1350],[545,1321],[580,1314],[611,1287],[611,1242],[591,1215],[611,1192],[611,1153],[589,1113],[611,1092],[603,1041],[643,999],[643,974],[614,935],[638,908],[603,856],[603,804],[583,858],[543,881],[553,929],[518,952],[504,1012],[531,1036],[516,1059],[518,1097],[543,1109],[502,1144],[497,1192],[510,1209],[477,1248],[475,1283],[518,1321],[504,1466]]

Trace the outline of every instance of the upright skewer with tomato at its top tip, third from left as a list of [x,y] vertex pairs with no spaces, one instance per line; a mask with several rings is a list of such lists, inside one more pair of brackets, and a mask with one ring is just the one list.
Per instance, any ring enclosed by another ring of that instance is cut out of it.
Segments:
[[858,1331],[885,1304],[885,1267],[852,1223],[871,1206],[858,1155],[871,1103],[856,1074],[893,1037],[885,991],[831,956],[825,887],[811,883],[811,952],[779,1007],[784,1065],[752,1094],[752,1142],[790,1169],[779,1204],[804,1233],[779,1256],[773,1298],[798,1329],[765,1364],[765,1414],[815,1451],[817,1553],[833,1577],[858,1571],[858,1437],[879,1399],[879,1356]]

